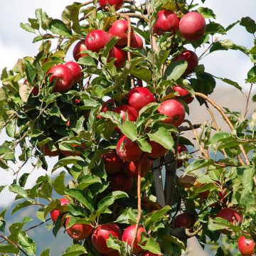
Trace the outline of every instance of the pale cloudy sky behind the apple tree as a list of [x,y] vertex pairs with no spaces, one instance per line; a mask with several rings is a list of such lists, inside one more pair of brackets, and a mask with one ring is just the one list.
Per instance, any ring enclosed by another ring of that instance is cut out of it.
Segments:
[[[194,3],[201,3],[201,1],[194,1]],[[256,20],[255,13],[255,0],[245,0],[243,4],[237,3],[233,0],[206,0],[203,6],[207,6],[213,9],[217,16],[218,23],[221,23],[224,27],[230,23],[237,21],[243,16],[250,16]],[[46,11],[48,16],[54,18],[60,18],[61,12],[68,4],[72,4],[73,1],[35,1],[35,0],[9,0],[0,1],[0,70],[4,67],[12,68],[18,58],[22,58],[26,55],[36,55],[39,43],[33,44],[33,34],[23,31],[19,24],[21,22],[26,23],[28,17],[35,17],[35,10],[38,8]],[[245,33],[245,28],[236,26],[231,30],[226,38],[232,39],[235,43],[252,47],[252,37]],[[70,54],[69,57],[70,58]],[[230,78],[239,82],[240,85],[246,90],[248,85],[245,85],[244,79],[246,78],[246,71],[250,69],[252,63],[245,58],[242,53],[237,51],[225,52],[225,58],[223,58],[223,52],[215,52],[204,58],[201,63],[206,65],[206,71],[216,75],[218,77]],[[225,86],[219,84],[219,86]],[[0,142],[6,139],[1,136]],[[48,163],[53,166],[54,159],[48,158]],[[15,167],[15,166],[14,166]],[[25,166],[26,171],[31,169],[31,165]],[[50,169],[50,168],[49,168]],[[0,186],[6,183],[11,183],[14,179],[11,174],[1,170]],[[37,176],[41,176],[43,171],[34,171],[33,176],[28,180],[28,184],[33,183]],[[6,206],[14,198],[14,194],[5,189],[0,193],[0,206]]]

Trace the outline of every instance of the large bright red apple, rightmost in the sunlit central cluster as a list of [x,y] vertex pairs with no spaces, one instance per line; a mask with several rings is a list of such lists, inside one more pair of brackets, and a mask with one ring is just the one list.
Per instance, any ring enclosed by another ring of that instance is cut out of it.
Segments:
[[185,109],[178,100],[165,100],[161,103],[157,111],[160,114],[168,116],[164,119],[164,123],[173,124],[175,127],[181,125],[185,118]]

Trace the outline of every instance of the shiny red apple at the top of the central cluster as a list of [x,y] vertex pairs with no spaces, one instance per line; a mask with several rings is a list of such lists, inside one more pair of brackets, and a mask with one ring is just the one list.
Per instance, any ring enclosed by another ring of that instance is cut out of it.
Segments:
[[137,112],[151,102],[155,102],[153,93],[146,87],[134,87],[127,93],[127,101]]

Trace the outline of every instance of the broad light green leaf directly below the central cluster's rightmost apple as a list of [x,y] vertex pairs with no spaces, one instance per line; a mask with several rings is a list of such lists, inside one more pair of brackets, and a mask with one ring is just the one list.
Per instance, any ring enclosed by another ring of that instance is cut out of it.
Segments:
[[165,127],[158,127],[154,132],[148,133],[149,139],[164,146],[165,149],[173,149],[174,138]]

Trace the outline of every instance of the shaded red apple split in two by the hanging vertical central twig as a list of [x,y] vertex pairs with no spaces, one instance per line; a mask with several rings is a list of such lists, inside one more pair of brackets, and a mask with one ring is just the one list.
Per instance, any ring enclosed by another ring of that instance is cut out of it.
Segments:
[[[152,168],[152,161],[149,160],[149,158],[143,154],[142,155],[142,171],[141,176],[144,177],[146,174],[149,173],[149,171]],[[124,162],[124,173],[127,174],[127,176],[130,177],[137,177],[138,176],[138,170],[139,170],[139,161],[130,161],[130,162]]]

